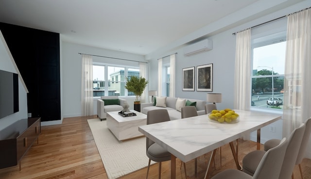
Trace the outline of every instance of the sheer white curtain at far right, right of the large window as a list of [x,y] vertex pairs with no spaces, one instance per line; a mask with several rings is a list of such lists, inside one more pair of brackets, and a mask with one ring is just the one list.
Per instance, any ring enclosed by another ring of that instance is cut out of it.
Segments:
[[[311,117],[311,9],[288,16],[283,136]],[[310,139],[311,140],[311,139]],[[306,156],[311,158],[311,141]]]

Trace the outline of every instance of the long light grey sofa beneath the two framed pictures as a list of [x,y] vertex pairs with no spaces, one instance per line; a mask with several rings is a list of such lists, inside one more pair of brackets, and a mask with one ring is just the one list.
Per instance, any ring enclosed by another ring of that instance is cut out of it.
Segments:
[[[178,98],[173,97],[166,97],[166,107],[165,109],[168,110],[171,120],[181,119],[181,112],[176,110],[176,102]],[[179,98],[184,99],[184,98]],[[199,99],[186,99],[191,102],[196,102],[195,108],[197,110],[198,115],[205,114],[205,105],[206,101],[199,100]],[[164,107],[155,106],[154,103],[141,103],[140,104],[141,113],[147,114],[148,111],[155,110],[155,109],[163,109]]]

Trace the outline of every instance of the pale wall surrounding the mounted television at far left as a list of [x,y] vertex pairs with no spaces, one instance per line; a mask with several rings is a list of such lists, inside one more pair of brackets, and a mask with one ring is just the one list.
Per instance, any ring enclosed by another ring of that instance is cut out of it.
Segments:
[[[0,70],[9,71],[13,73],[17,73],[12,61],[9,57],[9,54],[5,47],[5,41],[0,32]],[[18,75],[19,76],[19,75]],[[0,84],[1,85],[1,84]],[[18,102],[19,102],[19,111],[15,114],[8,115],[6,117],[0,118],[0,130],[4,129],[5,127],[13,124],[14,122],[18,121],[19,119],[27,118],[27,93],[22,85],[20,78],[18,78]],[[1,138],[1,136],[0,136]]]

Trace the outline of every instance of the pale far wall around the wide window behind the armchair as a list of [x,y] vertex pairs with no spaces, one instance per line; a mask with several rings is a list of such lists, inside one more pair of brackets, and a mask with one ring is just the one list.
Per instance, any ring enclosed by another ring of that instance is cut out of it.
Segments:
[[[140,62],[147,62],[144,60],[144,56],[125,53],[109,49],[99,49],[90,46],[78,45],[69,42],[62,42],[62,112],[63,117],[81,116],[81,70],[82,70],[82,56],[78,53],[128,59]],[[138,66],[138,62],[131,62],[125,60],[103,58],[93,56],[93,63],[105,63],[116,64],[126,66]],[[133,109],[134,98],[132,97],[120,97],[126,98],[130,109]],[[97,109],[97,98],[94,98],[94,114]]]

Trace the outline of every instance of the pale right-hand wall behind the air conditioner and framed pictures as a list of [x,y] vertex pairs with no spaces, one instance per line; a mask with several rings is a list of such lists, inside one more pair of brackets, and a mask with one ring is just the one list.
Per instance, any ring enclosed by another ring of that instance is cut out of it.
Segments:
[[[242,24],[237,27],[233,27],[230,30],[221,33],[215,33],[214,27],[202,28],[197,31],[197,33],[191,33],[188,36],[185,36],[183,39],[179,39],[172,44],[176,46],[168,45],[167,48],[159,49],[152,54],[147,55],[147,59],[150,60],[150,64],[153,65],[150,68],[150,86],[157,89],[157,59],[167,56],[173,53],[176,55],[176,97],[181,98],[196,98],[206,100],[207,92],[200,91],[182,91],[182,68],[197,66],[197,65],[206,65],[213,64],[213,91],[212,93],[222,93],[223,101],[217,103],[217,108],[233,108],[233,86],[234,86],[234,65],[235,65],[235,47],[236,47],[236,36],[232,33],[239,32],[241,30],[247,29],[249,27],[261,24],[263,22],[275,19],[280,16],[288,15],[299,11],[304,8],[310,7],[310,1],[303,1],[297,3],[291,7],[282,9],[277,12],[273,12],[267,16],[262,16],[259,19],[250,21],[248,23]],[[286,23],[286,20],[284,21]],[[271,27],[272,29],[278,28]],[[212,29],[212,30],[211,30]],[[203,31],[206,31],[204,33]],[[185,43],[190,42],[191,40],[197,39],[198,34],[204,34],[205,37],[213,41],[213,49],[207,52],[200,54],[192,55],[186,57],[183,55],[183,47]],[[184,40],[184,44],[181,45],[181,41]],[[196,69],[195,69],[196,74]],[[195,81],[196,81],[195,77]],[[196,85],[196,82],[195,82]],[[276,132],[270,132],[270,127],[275,126]],[[251,139],[256,140],[256,132],[251,133]],[[282,120],[279,120],[263,129],[261,129],[261,142],[282,137]]]

